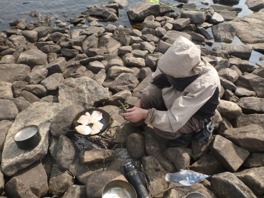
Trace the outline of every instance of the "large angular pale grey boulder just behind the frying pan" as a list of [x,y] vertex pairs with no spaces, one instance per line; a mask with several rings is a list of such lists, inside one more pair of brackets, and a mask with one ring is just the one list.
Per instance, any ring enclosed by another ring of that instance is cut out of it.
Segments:
[[108,99],[108,88],[88,77],[70,79],[59,85],[58,100],[61,104],[80,104],[84,109],[89,109]]

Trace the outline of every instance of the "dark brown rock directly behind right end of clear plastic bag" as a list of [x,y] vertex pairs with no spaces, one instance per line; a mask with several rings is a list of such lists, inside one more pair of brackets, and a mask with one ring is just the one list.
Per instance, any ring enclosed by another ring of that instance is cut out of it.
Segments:
[[223,166],[220,161],[213,156],[207,156],[194,162],[190,166],[190,170],[212,176],[221,173],[223,171]]

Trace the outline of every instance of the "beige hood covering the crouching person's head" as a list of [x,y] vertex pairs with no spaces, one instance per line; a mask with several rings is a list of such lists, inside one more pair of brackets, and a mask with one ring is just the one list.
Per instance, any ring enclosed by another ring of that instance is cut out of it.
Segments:
[[162,73],[175,78],[194,76],[202,71],[205,64],[201,60],[201,50],[180,36],[158,61]]

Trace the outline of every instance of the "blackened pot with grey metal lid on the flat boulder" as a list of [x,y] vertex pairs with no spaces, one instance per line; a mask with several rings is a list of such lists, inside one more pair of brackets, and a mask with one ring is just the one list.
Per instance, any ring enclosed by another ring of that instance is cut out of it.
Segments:
[[38,126],[29,125],[20,128],[14,135],[13,140],[19,149],[34,149],[41,140]]

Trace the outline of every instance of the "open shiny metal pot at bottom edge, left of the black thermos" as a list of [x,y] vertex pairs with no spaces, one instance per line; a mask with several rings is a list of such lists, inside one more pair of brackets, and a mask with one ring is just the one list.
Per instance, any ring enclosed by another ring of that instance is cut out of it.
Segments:
[[104,187],[102,198],[137,198],[137,193],[130,183],[113,180]]

